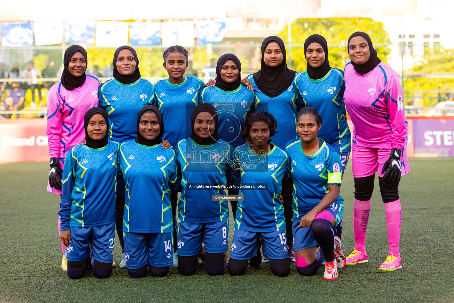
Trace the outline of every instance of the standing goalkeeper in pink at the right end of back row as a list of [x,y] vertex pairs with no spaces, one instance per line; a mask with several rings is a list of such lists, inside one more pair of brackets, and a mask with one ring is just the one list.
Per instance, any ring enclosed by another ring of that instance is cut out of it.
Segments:
[[378,171],[385,205],[390,252],[380,270],[401,268],[399,253],[402,208],[400,177],[410,172],[407,159],[408,123],[399,76],[381,62],[369,35],[355,32],[347,43],[351,61],[345,65],[345,106],[355,126],[352,139],[352,170],[355,178],[353,232],[355,250],[347,265],[367,262],[364,247],[370,197]]

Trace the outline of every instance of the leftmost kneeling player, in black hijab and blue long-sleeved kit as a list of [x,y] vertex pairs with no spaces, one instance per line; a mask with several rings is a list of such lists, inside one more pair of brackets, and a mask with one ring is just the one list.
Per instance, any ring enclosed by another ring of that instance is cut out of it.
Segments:
[[90,247],[94,275],[108,278],[112,273],[118,143],[108,141],[108,124],[104,109],[89,109],[84,116],[86,144],[69,149],[64,161],[60,239],[71,279],[84,276]]

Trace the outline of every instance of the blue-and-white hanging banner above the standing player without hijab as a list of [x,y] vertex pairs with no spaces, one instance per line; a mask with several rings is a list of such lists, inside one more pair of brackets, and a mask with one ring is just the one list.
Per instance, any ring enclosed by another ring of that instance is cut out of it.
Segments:
[[161,24],[130,23],[129,43],[132,46],[161,44]]

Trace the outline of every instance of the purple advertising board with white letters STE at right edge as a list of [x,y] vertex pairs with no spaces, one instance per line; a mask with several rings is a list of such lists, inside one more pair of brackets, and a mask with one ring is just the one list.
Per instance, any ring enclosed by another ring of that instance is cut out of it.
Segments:
[[454,157],[454,119],[414,119],[415,157]]

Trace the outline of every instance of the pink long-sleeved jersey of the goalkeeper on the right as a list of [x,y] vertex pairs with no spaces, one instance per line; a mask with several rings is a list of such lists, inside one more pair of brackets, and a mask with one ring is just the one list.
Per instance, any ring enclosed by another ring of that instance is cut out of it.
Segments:
[[353,122],[353,144],[372,148],[402,149],[408,123],[399,76],[381,62],[365,75],[351,63],[344,69],[345,106]]

